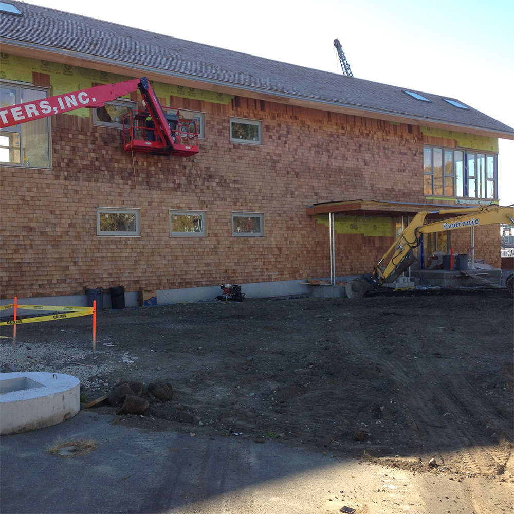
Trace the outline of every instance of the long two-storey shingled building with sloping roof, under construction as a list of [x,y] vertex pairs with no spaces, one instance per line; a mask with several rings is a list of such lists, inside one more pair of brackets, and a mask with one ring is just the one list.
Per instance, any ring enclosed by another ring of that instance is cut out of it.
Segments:
[[[166,303],[227,282],[247,297],[302,293],[331,273],[328,213],[347,277],[427,205],[498,199],[498,138],[514,131],[458,99],[21,2],[0,11],[2,106],[148,77],[200,134],[192,156],[125,152],[136,92],[3,129],[4,303],[77,305],[118,285],[128,305],[141,288]],[[450,244],[500,267],[497,226],[427,238],[419,258]]]

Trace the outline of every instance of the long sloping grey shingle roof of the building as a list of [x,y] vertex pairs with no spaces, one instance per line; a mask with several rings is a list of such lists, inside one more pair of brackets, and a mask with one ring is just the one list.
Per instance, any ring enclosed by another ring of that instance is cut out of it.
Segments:
[[[504,134],[514,129],[466,105],[450,105],[444,97],[416,91],[430,102],[419,101],[401,87],[346,77],[104,22],[22,2],[12,2],[22,17],[2,14],[0,41],[44,48],[58,53],[77,52],[92,60],[111,61],[138,69],[159,70],[172,77],[190,78],[251,91],[351,108],[380,118],[380,114],[447,123]],[[50,29],[51,28],[51,29]]]

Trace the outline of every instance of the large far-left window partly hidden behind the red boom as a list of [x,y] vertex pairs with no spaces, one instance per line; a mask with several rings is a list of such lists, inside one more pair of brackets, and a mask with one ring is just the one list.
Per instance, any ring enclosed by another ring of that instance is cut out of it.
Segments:
[[[0,83],[0,107],[46,98],[46,89]],[[49,118],[0,129],[0,162],[14,166],[50,167]]]

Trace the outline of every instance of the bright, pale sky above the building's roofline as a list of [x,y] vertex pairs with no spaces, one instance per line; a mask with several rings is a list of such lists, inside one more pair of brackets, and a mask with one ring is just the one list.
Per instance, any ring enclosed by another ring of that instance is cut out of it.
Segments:
[[[458,98],[514,126],[514,0],[30,3],[336,73],[339,38],[355,77]],[[514,141],[500,140],[499,185],[500,203],[514,204]]]

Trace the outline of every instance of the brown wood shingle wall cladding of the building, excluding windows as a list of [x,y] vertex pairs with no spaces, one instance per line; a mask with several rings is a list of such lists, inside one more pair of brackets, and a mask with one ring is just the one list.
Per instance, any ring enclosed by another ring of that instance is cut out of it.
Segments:
[[[425,202],[419,127],[243,97],[169,104],[205,112],[194,158],[132,155],[120,130],[60,115],[51,170],[3,169],[2,298],[326,277],[328,232],[307,205]],[[230,142],[231,116],[262,120],[263,144]],[[140,209],[141,237],[97,236],[97,207]],[[207,236],[170,237],[169,209],[207,211]],[[232,237],[232,211],[264,213],[265,237]],[[371,272],[391,244],[336,237],[339,275]],[[469,249],[469,234],[455,237],[456,251]],[[499,266],[490,240],[476,231],[476,256]]]

